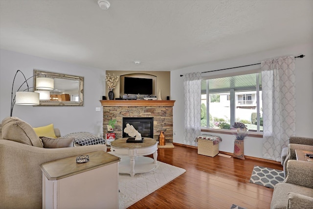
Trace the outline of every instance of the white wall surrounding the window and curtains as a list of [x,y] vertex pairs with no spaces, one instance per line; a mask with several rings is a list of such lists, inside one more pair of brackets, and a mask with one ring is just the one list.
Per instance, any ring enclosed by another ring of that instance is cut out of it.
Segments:
[[[210,70],[219,70],[236,66],[260,63],[263,60],[276,58],[280,56],[304,54],[304,58],[297,58],[296,66],[296,136],[313,137],[313,42],[302,43],[295,46],[286,46],[270,51],[263,51],[233,59],[226,59],[219,62],[212,62],[191,66],[179,70],[171,71],[171,99],[176,100],[173,108],[173,141],[182,143],[184,134],[184,98],[183,98],[183,77],[180,74],[188,72],[204,72]],[[240,68],[232,70],[251,70],[260,68],[260,65],[249,68]],[[212,73],[202,73],[202,76],[228,73],[232,70],[223,70]],[[214,134],[213,134],[214,135]],[[215,134],[222,137],[220,150],[224,152],[233,152],[234,136]],[[262,157],[263,139],[247,137],[245,139],[245,155],[258,158]]]

